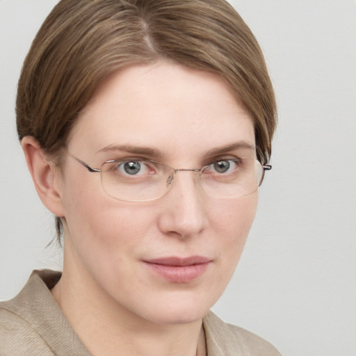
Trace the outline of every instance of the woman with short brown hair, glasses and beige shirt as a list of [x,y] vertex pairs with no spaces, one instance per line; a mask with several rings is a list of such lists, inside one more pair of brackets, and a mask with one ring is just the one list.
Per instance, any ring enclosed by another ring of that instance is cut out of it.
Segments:
[[279,355],[209,312],[270,169],[264,58],[224,0],[63,0],[17,129],[63,273],[1,304],[0,355]]

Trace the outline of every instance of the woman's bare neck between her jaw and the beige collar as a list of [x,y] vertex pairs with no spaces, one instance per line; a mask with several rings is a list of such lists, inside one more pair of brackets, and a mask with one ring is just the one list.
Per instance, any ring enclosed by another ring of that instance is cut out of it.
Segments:
[[103,296],[77,267],[64,264],[52,295],[92,355],[206,355],[202,320],[175,325],[147,321]]

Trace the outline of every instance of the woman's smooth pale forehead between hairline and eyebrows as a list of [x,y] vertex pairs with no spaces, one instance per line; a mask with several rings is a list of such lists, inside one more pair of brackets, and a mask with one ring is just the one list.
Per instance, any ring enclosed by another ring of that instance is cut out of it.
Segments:
[[79,115],[70,140],[90,152],[143,145],[184,154],[241,140],[254,145],[254,129],[219,76],[159,61],[108,76]]

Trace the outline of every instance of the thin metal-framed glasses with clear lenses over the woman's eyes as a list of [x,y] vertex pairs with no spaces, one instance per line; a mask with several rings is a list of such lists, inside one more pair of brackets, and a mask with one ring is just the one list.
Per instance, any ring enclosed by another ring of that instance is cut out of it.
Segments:
[[155,161],[135,159],[106,161],[101,168],[92,168],[76,156],[70,156],[89,172],[100,173],[108,195],[126,202],[149,202],[163,197],[172,188],[177,172],[193,172],[196,186],[210,197],[243,197],[257,191],[264,172],[272,168],[248,158],[219,159],[200,169],[176,169]]

